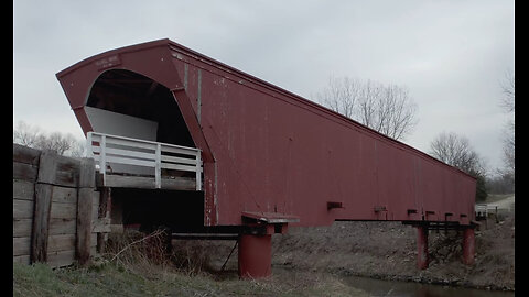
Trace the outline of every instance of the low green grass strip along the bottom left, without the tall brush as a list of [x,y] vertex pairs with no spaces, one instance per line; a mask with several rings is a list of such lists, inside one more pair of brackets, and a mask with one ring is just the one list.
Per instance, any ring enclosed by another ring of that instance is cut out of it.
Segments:
[[269,279],[245,280],[233,272],[216,280],[209,273],[149,270],[144,274],[112,263],[55,270],[13,263],[13,296],[367,296],[328,274],[279,272]]

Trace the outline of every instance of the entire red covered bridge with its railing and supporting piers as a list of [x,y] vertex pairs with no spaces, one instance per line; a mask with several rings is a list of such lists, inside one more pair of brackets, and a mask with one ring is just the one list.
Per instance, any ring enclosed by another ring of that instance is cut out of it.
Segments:
[[270,274],[272,233],[335,220],[417,227],[419,267],[429,229],[462,229],[473,261],[476,180],[320,105],[170,40],[56,76],[116,223],[236,234],[241,276]]

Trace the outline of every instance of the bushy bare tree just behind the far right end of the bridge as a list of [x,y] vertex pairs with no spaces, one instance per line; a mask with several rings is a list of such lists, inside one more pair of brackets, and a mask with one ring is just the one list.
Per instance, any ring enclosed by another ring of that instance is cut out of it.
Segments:
[[476,200],[483,201],[487,198],[485,162],[474,151],[467,138],[443,132],[431,142],[430,148],[433,157],[476,178]]

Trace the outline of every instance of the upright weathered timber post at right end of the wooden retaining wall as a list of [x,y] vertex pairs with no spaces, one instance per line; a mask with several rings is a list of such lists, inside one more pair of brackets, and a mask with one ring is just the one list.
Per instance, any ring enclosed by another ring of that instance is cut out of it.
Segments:
[[76,258],[82,265],[90,257],[93,195],[94,189],[79,188],[77,196]]

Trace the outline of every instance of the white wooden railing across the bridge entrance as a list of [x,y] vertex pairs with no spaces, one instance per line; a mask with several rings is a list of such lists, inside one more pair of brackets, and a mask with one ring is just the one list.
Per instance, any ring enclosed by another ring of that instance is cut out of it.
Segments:
[[94,157],[96,169],[112,173],[153,175],[155,188],[162,187],[162,169],[195,173],[196,190],[202,190],[201,150],[169,143],[131,139],[97,132],[86,136],[87,157]]

